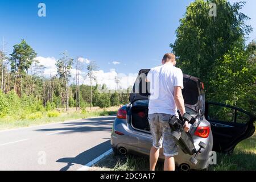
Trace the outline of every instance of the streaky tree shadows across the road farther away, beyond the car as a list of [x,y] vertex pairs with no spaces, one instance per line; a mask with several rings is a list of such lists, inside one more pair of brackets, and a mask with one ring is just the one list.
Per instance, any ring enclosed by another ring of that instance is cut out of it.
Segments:
[[[115,117],[84,119],[84,122],[62,123],[63,127],[38,129],[35,131],[63,131],[60,134],[89,133],[92,131],[110,131]],[[68,126],[68,127],[67,127]]]

